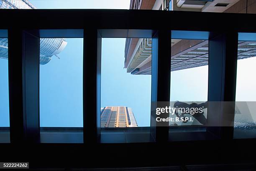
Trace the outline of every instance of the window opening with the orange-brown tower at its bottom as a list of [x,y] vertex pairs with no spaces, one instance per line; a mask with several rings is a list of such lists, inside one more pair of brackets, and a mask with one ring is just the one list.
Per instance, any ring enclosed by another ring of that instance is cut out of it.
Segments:
[[[129,43],[134,45],[133,48],[131,46],[130,49],[125,48]],[[133,130],[130,133],[136,133],[138,129],[130,127],[146,129],[150,126],[151,44],[151,39],[143,38],[102,38],[102,139],[114,131],[115,135],[111,135],[112,139],[107,137],[111,142],[133,141],[133,138],[127,138],[130,134],[124,135],[125,130]],[[107,131],[110,132],[105,134]],[[117,134],[119,134],[118,138],[114,138]],[[124,137],[127,139],[125,140]],[[137,139],[137,141],[142,140]]]

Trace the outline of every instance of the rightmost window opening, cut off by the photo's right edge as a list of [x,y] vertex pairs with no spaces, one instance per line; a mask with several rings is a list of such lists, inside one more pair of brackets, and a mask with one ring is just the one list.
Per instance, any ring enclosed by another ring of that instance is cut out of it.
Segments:
[[256,138],[255,65],[256,41],[238,41],[234,138]]

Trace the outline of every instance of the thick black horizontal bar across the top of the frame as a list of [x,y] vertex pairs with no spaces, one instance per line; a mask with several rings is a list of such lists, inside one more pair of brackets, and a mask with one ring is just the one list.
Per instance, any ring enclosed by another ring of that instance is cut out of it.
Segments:
[[[96,29],[165,29],[256,33],[256,23],[251,22],[255,19],[255,14],[162,10],[13,9],[0,10],[0,15],[8,16],[2,18],[0,29],[84,29],[94,27]],[[29,20],[24,20],[24,18],[29,18]],[[200,24],[192,20],[197,18],[200,19]],[[167,22],[169,20],[172,21]],[[243,21],[243,24],[237,24],[233,21]]]

